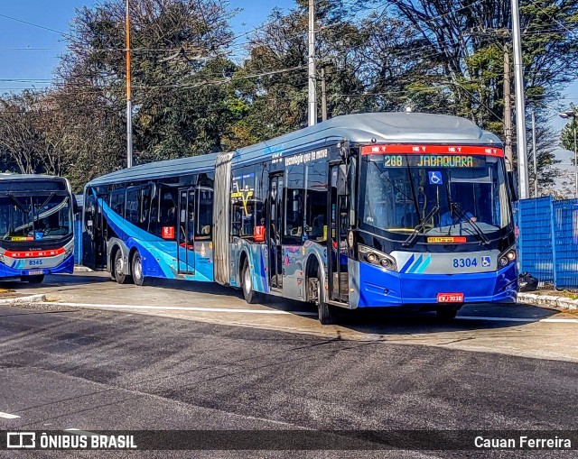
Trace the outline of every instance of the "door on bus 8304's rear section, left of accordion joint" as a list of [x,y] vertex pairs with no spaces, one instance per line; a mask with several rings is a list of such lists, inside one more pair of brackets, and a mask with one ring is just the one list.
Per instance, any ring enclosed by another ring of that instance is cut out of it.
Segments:
[[179,274],[195,273],[195,190],[179,189],[179,229],[177,257]]

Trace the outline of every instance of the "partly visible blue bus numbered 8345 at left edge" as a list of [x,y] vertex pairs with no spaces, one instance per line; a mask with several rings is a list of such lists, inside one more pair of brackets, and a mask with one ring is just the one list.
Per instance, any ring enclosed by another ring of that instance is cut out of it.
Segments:
[[67,179],[0,174],[0,279],[74,271],[74,204]]

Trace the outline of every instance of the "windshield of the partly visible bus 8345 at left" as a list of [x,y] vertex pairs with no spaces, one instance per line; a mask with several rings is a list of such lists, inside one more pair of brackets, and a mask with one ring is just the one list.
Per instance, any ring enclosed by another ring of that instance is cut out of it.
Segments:
[[60,239],[72,233],[70,197],[62,193],[0,196],[0,238],[27,242]]

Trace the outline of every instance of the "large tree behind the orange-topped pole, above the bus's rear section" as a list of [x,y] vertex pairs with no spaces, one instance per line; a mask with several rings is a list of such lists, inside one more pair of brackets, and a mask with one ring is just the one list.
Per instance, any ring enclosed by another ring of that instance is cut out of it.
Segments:
[[[235,69],[223,55],[233,13],[218,0],[131,2],[135,163],[221,148],[233,116],[222,81]],[[76,151],[75,185],[125,164],[124,50],[124,1],[79,10],[57,96]]]

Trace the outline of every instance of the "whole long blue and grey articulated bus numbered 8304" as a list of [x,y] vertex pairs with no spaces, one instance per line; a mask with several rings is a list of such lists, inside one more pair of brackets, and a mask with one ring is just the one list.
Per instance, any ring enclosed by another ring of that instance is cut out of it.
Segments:
[[499,138],[446,115],[343,115],[85,189],[83,260],[120,283],[216,281],[337,308],[454,317],[517,295]]

